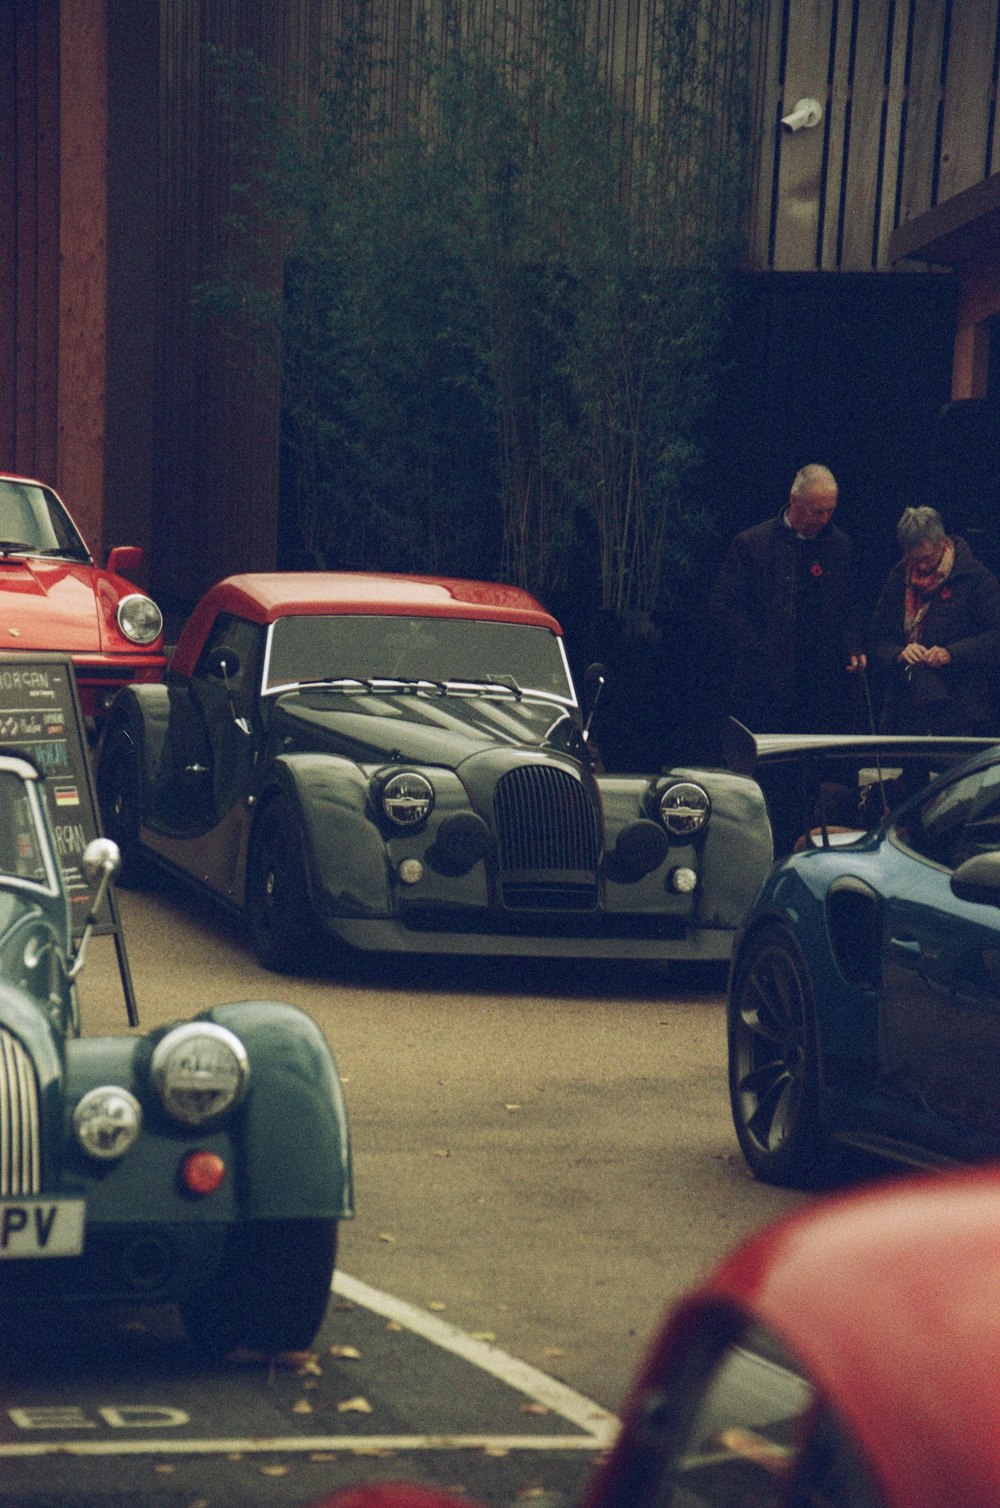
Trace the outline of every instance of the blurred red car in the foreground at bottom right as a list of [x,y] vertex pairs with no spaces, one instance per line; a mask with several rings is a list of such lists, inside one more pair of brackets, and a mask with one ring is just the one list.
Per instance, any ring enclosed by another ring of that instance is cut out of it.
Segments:
[[584,1508],[997,1508],[998,1292],[997,1167],[802,1206],[674,1310]]

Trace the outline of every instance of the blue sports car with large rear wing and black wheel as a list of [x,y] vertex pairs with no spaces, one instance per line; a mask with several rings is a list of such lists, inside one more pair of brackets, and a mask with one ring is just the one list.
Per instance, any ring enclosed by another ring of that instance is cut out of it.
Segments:
[[747,734],[802,837],[739,930],[729,1081],[754,1175],[810,1185],[840,1149],[1000,1155],[1000,745]]

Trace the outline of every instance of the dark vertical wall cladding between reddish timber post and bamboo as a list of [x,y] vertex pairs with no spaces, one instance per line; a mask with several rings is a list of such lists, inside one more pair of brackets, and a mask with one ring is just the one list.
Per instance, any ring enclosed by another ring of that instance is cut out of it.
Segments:
[[[252,211],[234,195],[240,130],[210,50],[252,56],[290,97],[335,35],[336,12],[333,0],[160,3],[155,492],[170,529],[155,540],[154,564],[166,597],[192,600],[219,576],[273,566],[276,552],[278,371],[250,336],[195,309],[198,287],[237,250],[232,214]],[[265,247],[256,273],[279,290],[279,258]]]

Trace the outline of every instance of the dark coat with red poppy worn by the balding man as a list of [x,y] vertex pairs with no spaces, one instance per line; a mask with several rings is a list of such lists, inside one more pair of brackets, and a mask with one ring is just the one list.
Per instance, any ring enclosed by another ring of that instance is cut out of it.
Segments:
[[710,599],[732,670],[729,712],[754,733],[837,733],[852,724],[846,665],[860,651],[848,535],[799,540],[784,510],[738,534]]

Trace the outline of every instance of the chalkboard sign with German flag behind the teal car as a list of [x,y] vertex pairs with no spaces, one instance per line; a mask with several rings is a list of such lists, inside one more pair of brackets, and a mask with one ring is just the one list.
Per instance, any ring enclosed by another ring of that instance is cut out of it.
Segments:
[[[0,654],[0,751],[24,754],[44,777],[45,810],[56,840],[74,938],[94,903],[81,861],[101,835],[86,724],[72,661],[63,654]],[[115,891],[109,888],[95,932],[112,933],[130,1021],[137,1021]]]

